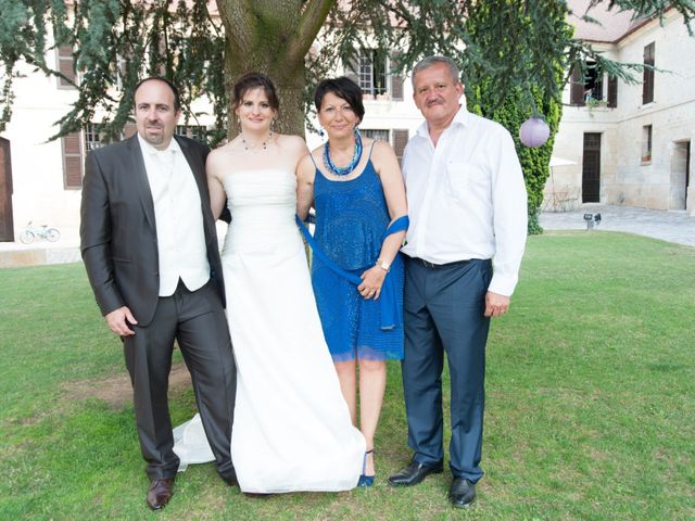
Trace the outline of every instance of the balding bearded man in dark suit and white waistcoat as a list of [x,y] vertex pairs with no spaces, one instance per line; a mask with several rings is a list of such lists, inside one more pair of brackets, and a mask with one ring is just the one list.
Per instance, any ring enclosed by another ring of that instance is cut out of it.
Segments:
[[174,136],[180,105],[168,80],[142,80],[134,99],[138,134],[87,156],[80,239],[101,313],[123,340],[151,480],[147,500],[157,510],[172,496],[179,463],[167,402],[174,340],[217,471],[230,484],[236,367],[205,178],[208,149]]

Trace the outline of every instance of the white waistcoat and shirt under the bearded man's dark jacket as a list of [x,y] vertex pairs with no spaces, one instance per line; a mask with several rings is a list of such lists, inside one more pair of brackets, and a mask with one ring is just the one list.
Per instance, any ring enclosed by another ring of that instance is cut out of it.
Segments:
[[200,192],[176,139],[157,150],[138,135],[156,221],[160,296],[176,291],[180,278],[195,291],[210,280]]

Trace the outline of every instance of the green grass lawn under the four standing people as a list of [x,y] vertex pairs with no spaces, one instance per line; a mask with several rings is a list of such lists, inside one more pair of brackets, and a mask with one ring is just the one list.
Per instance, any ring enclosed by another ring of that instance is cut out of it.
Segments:
[[[448,506],[447,472],[387,486],[409,458],[391,364],[372,488],[250,498],[201,465],[151,513],[130,390],[97,397],[125,368],[83,266],[2,269],[0,519],[695,519],[695,249],[532,237],[488,347],[485,476],[467,511]],[[178,423],[194,401],[172,394]]]

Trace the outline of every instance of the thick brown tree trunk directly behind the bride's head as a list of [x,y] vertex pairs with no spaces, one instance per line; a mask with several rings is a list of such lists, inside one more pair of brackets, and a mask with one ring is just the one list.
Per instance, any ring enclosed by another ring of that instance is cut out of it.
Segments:
[[[278,132],[304,136],[304,56],[334,1],[217,0],[226,38],[225,85],[231,92],[242,74],[267,74],[280,99]],[[230,138],[239,131],[231,102]]]

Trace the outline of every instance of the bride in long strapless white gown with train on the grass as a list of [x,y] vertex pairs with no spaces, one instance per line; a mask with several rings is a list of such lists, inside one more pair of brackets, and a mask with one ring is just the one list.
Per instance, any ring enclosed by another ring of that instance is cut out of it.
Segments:
[[[294,170],[308,151],[301,138],[270,130],[278,102],[267,77],[243,76],[233,98],[241,134],[211,152],[206,168],[213,214],[226,198],[232,216],[222,260],[238,370],[231,457],[239,486],[350,490],[363,472],[365,440],[340,391],[294,223]],[[181,468],[212,460],[197,419],[175,439]]]

